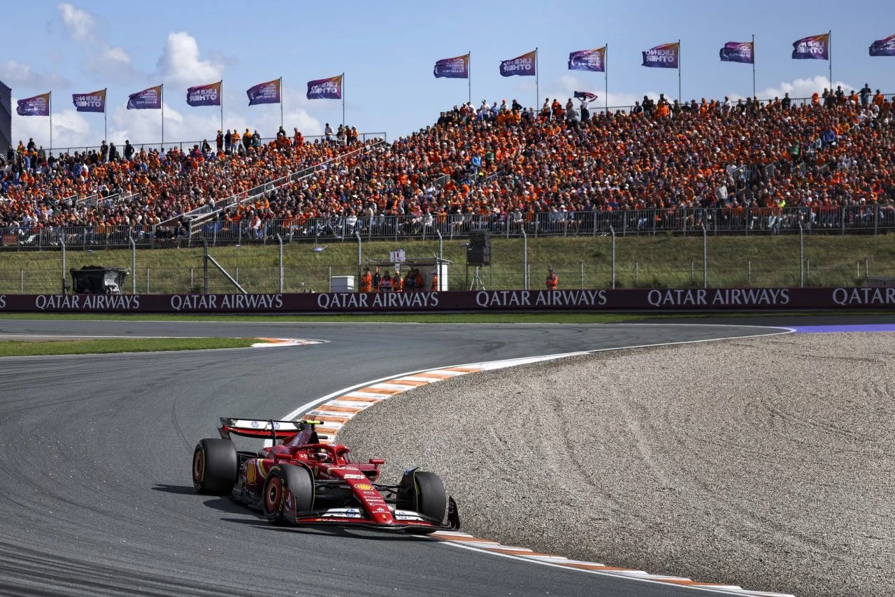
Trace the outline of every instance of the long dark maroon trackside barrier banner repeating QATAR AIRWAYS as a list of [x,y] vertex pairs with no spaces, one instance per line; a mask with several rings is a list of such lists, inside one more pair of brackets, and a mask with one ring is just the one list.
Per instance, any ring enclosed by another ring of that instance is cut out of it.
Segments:
[[439,312],[861,311],[895,307],[895,287],[632,288],[301,294],[0,294],[0,311]]

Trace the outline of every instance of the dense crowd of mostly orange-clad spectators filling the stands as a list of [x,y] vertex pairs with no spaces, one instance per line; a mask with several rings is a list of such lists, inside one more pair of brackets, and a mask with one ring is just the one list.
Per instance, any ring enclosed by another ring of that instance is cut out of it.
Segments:
[[[842,206],[895,202],[891,100],[869,85],[788,97],[692,100],[644,98],[606,112],[582,100],[513,100],[442,112],[436,124],[339,160],[297,183],[217,213],[218,229],[248,222],[263,234],[277,220],[291,234],[330,218],[352,229],[403,216],[410,230],[465,215],[524,226],[536,213],[575,221],[593,211]],[[357,149],[354,128],[305,143],[280,131],[218,132],[215,147],[189,152],[119,152],[46,158],[11,148],[0,176],[0,226],[147,226],[259,183]],[[79,208],[74,195],[139,193],[139,200]],[[646,213],[644,211],[644,213]],[[280,221],[281,220],[281,221]],[[315,224],[309,222],[315,221]],[[643,217],[639,222],[648,222]],[[409,230],[408,230],[409,231]],[[279,232],[279,230],[277,230]]]

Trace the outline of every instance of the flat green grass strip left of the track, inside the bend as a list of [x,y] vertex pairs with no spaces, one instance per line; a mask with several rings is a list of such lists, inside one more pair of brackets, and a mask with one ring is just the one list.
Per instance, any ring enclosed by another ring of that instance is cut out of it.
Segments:
[[248,348],[255,338],[98,338],[90,340],[47,340],[0,342],[0,356],[36,354],[158,353],[172,350]]

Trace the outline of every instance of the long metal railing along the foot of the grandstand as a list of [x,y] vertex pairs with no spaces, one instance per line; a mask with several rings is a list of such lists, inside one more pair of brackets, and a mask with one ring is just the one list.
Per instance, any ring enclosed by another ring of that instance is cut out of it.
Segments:
[[277,243],[281,235],[293,242],[354,242],[364,240],[464,238],[486,231],[495,236],[609,235],[878,235],[895,230],[895,206],[792,207],[783,209],[632,209],[499,215],[447,214],[426,216],[332,216],[248,220],[212,220],[179,239],[158,237],[165,226],[62,226],[0,228],[5,250],[47,250],[61,243],[69,249],[124,248],[133,240],[141,248],[209,244]]

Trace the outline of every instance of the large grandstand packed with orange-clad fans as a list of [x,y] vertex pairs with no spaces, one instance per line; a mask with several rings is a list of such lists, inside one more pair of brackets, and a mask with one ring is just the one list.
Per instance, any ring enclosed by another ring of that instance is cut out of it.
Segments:
[[[831,231],[895,226],[892,97],[455,107],[385,142],[289,139],[2,160],[4,246],[321,236]],[[384,135],[383,135],[384,137]],[[130,154],[130,155],[129,155]],[[125,156],[128,156],[126,158]]]

